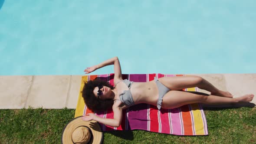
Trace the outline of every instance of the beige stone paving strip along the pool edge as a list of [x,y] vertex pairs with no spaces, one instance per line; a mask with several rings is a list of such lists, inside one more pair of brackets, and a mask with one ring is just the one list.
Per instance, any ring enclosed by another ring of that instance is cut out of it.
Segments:
[[[201,76],[234,97],[256,95],[256,73],[188,75]],[[75,108],[81,79],[82,75],[0,76],[0,109]],[[256,104],[256,98],[252,103]]]

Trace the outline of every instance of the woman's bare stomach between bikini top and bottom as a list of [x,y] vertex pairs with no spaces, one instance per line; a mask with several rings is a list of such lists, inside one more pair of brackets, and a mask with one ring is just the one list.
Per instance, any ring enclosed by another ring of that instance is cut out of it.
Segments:
[[135,104],[147,103],[157,105],[158,88],[154,81],[134,82],[131,85],[131,95]]

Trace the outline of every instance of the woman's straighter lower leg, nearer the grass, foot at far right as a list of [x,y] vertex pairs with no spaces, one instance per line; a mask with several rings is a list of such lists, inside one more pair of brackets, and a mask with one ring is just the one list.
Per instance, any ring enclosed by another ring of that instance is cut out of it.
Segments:
[[217,95],[197,95],[190,92],[181,91],[170,91],[164,95],[162,108],[177,108],[182,105],[192,104],[192,103],[206,103],[206,104],[228,104],[236,103],[240,101],[249,102],[253,100],[253,94],[243,95],[239,98],[225,98]]

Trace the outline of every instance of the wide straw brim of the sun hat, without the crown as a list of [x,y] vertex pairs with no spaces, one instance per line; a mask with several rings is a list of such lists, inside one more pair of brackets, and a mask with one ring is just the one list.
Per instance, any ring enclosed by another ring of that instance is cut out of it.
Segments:
[[72,133],[73,131],[80,127],[85,126],[92,131],[92,140],[90,143],[92,144],[100,144],[103,139],[102,129],[100,127],[100,124],[97,121],[83,121],[82,116],[73,118],[69,123],[65,126],[65,128],[62,131],[62,138],[61,142],[62,144],[73,144],[72,141]]

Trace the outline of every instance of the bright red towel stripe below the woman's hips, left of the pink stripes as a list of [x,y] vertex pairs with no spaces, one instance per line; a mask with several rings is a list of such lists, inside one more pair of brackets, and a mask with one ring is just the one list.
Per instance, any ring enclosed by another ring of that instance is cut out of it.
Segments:
[[149,110],[150,117],[150,131],[158,132],[158,108],[154,105],[150,105]]

